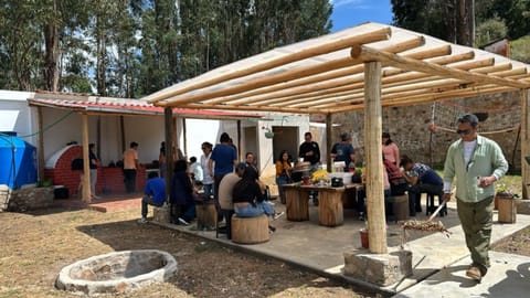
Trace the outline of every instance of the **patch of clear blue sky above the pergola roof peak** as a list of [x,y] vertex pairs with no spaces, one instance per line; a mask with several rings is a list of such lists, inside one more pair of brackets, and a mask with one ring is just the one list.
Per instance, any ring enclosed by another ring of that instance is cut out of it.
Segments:
[[368,21],[390,24],[392,6],[390,0],[330,0],[333,4],[332,32]]

